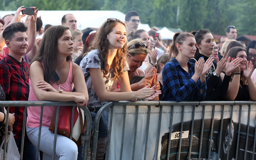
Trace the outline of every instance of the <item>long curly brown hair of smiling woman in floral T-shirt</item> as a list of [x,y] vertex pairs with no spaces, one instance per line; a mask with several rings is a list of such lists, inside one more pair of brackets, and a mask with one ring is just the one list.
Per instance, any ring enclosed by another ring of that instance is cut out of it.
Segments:
[[[98,50],[100,59],[102,61],[101,70],[103,72],[103,77],[106,78],[109,71],[112,69],[113,75],[111,78],[116,82],[120,80],[123,76],[123,70],[124,70],[124,67],[126,66],[127,47],[125,43],[123,48],[117,49],[116,56],[114,57],[112,62],[113,64],[112,68],[110,69],[107,62],[108,55],[109,55],[108,53],[109,42],[107,40],[107,35],[113,31],[113,28],[116,27],[118,23],[121,23],[122,25],[124,25],[124,27],[126,27],[124,22],[118,19],[116,21],[105,21],[101,25],[101,27],[98,29],[97,34],[95,35],[94,39],[91,42],[91,47],[89,47],[88,49],[88,52],[94,49]],[[84,56],[87,53],[85,53]]]

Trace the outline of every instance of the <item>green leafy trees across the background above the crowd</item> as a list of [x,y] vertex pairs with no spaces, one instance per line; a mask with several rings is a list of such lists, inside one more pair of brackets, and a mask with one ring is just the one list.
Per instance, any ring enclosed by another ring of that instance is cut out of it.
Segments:
[[225,35],[226,27],[234,25],[239,35],[256,35],[255,0],[2,0],[0,9],[16,10],[22,5],[39,10],[119,10],[124,14],[135,10],[151,27],[205,28]]

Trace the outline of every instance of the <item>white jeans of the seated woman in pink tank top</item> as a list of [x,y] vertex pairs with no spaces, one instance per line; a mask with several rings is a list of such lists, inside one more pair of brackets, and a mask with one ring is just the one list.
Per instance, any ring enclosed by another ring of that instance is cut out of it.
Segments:
[[[31,143],[37,146],[38,140],[37,128],[27,127],[27,135]],[[54,133],[49,131],[49,127],[42,127],[40,150],[43,152],[43,160],[52,160]],[[78,156],[78,147],[71,139],[57,134],[55,160],[76,160]]]

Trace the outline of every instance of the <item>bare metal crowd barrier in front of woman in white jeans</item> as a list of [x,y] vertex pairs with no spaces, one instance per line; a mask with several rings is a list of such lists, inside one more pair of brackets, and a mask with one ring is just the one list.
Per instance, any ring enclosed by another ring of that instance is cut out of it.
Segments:
[[[5,127],[5,143],[4,143],[4,157],[3,159],[5,160],[5,155],[6,155],[6,146],[7,146],[7,130],[8,130],[8,117],[9,117],[9,110],[10,107],[20,107],[23,106],[25,107],[24,110],[24,115],[27,115],[27,107],[28,106],[41,106],[41,115],[40,115],[40,124],[39,124],[39,135],[38,135],[38,142],[37,142],[37,158],[36,160],[39,159],[39,146],[40,146],[40,137],[41,137],[41,128],[42,128],[42,116],[43,116],[43,108],[44,106],[57,106],[57,114],[56,114],[56,123],[55,123],[55,133],[54,133],[54,147],[53,147],[53,157],[52,159],[54,160],[55,158],[55,148],[56,148],[56,136],[57,136],[57,127],[58,127],[58,116],[59,116],[59,106],[73,106],[72,113],[74,113],[75,107],[77,104],[75,102],[57,102],[57,101],[0,101],[0,106],[1,107],[6,107],[6,127]],[[91,124],[92,124],[92,119],[91,119],[91,114],[88,108],[84,106],[78,106],[80,107],[87,118],[87,126],[85,130],[85,134],[81,135],[81,140],[85,142],[84,145],[84,152],[83,152],[83,160],[87,160],[88,157],[88,152],[89,152],[89,145],[90,145],[90,140],[91,140]],[[26,116],[23,118],[23,128],[22,128],[22,140],[21,140],[21,154],[20,154],[20,160],[22,160],[23,156],[23,145],[24,145],[24,137],[25,137],[25,127],[26,127]],[[74,114],[71,118],[71,124],[74,122]],[[71,125],[71,131],[70,131],[70,139],[72,138],[72,130],[73,130],[73,125]],[[1,158],[0,158],[1,159]]]

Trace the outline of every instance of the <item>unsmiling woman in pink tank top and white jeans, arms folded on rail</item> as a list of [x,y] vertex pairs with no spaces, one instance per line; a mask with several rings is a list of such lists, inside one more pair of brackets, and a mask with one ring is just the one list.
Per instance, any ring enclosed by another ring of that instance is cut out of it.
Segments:
[[[73,42],[68,27],[59,25],[50,27],[41,41],[36,56],[30,65],[29,101],[75,101],[80,106],[86,106],[88,92],[84,75],[78,65],[71,62]],[[57,75],[56,75],[57,74]],[[71,92],[74,82],[76,92]],[[53,106],[43,110],[40,150],[43,159],[52,159],[54,133],[49,131]],[[37,146],[38,128],[41,107],[27,108],[27,135]],[[77,159],[78,147],[75,142],[57,134],[55,154],[62,159]]]

